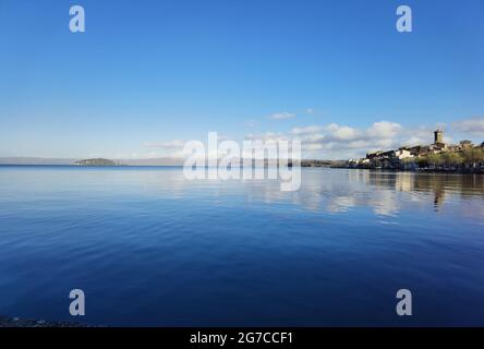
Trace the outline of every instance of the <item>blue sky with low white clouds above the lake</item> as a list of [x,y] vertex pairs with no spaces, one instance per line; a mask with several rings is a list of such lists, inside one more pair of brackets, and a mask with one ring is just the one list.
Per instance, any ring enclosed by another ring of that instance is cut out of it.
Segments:
[[483,0],[0,0],[0,156],[156,157],[208,131],[303,135],[322,158],[437,125],[482,142],[483,17]]

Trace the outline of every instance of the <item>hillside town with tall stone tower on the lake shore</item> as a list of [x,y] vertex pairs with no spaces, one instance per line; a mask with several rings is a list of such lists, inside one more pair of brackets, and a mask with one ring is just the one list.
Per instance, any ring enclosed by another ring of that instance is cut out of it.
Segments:
[[348,161],[351,168],[402,169],[431,171],[484,171],[484,142],[474,145],[464,140],[446,144],[444,131],[434,132],[434,143],[426,146],[403,146],[395,151],[373,152],[365,158]]

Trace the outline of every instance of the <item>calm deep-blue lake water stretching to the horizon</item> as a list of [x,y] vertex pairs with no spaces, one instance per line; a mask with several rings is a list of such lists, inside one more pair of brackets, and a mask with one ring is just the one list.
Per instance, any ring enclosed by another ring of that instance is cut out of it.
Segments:
[[94,325],[483,326],[483,177],[0,167],[0,314],[73,321],[80,288]]

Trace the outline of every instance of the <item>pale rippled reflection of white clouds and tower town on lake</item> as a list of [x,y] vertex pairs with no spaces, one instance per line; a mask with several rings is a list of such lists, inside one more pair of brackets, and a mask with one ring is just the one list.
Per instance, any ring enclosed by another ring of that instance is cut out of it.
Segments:
[[[249,200],[291,203],[310,210],[344,213],[367,206],[379,216],[395,216],[412,202],[440,208],[452,195],[484,198],[483,176],[311,169],[298,192],[281,192],[277,181],[247,183]],[[406,203],[407,202],[407,203]]]

